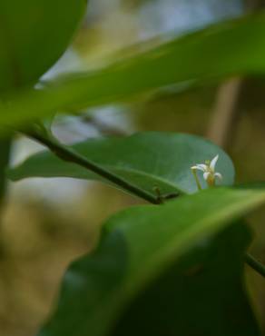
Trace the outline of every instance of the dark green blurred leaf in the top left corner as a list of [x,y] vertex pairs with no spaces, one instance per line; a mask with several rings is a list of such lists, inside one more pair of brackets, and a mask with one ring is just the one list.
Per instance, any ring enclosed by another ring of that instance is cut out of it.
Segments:
[[0,92],[36,82],[64,53],[86,0],[1,0]]

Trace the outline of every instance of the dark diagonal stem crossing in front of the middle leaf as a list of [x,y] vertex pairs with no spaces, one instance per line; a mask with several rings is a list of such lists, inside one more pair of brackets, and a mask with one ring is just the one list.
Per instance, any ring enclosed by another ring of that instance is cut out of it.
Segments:
[[63,159],[64,161],[76,163],[81,165],[83,168],[92,171],[104,179],[122,187],[124,190],[137,195],[138,197],[142,198],[143,200],[153,203],[153,204],[160,204],[161,201],[159,198],[152,195],[152,193],[148,193],[141,188],[137,187],[136,185],[129,183],[120,176],[112,173],[101,165],[94,163],[83,157],[83,155],[76,153],[72,148],[65,146],[62,143],[59,143],[50,133],[44,133],[43,130],[39,132],[36,128],[31,129],[30,131],[23,132],[25,135],[31,137],[32,139],[36,140],[39,143],[44,144],[47,148],[49,148],[56,156]]

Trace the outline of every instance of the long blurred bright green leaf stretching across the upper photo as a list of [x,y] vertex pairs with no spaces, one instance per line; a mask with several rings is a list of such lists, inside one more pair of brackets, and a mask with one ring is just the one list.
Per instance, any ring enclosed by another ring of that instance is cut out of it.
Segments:
[[263,13],[210,26],[106,68],[63,79],[44,91],[11,95],[13,104],[0,105],[0,124],[128,100],[172,84],[263,74],[264,35]]

